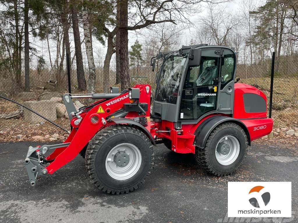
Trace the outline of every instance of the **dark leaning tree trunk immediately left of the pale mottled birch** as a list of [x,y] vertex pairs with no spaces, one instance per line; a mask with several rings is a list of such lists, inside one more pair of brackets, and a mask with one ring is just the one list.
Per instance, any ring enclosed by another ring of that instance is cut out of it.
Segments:
[[78,85],[78,90],[84,91],[86,90],[87,86],[86,86],[86,80],[84,76],[79,21],[77,19],[77,8],[75,5],[75,1],[72,1],[72,29],[73,29],[74,42],[75,42],[75,57],[77,62],[77,85]]

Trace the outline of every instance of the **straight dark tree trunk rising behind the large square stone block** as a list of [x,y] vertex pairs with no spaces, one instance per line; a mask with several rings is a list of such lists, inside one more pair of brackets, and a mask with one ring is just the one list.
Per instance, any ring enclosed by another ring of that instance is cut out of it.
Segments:
[[24,0],[24,40],[25,40],[25,91],[30,91],[29,70],[29,6],[28,0]]

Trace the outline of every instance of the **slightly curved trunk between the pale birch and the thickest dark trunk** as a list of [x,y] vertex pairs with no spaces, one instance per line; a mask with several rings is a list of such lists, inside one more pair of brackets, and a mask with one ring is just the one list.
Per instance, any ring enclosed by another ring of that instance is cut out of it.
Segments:
[[112,55],[116,52],[114,47],[115,44],[113,42],[113,37],[111,33],[108,33],[108,48],[107,53],[105,54],[105,60],[103,62],[103,92],[110,93],[109,85],[110,85],[110,62]]

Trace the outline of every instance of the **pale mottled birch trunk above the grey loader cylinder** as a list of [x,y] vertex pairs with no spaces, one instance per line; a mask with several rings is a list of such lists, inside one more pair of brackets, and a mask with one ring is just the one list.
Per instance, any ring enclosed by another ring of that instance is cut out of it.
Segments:
[[92,43],[91,43],[91,33],[89,29],[89,18],[87,10],[83,10],[83,27],[84,27],[84,36],[85,36],[85,48],[86,48],[86,55],[88,61],[88,68],[89,68],[89,76],[88,76],[88,94],[94,93],[95,89],[95,81],[96,81],[96,73],[95,73],[95,64],[94,64],[94,57],[92,51]]

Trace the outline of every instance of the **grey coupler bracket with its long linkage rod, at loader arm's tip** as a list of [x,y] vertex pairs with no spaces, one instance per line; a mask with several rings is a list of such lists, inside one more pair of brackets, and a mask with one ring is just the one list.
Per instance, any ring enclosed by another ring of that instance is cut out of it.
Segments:
[[29,146],[25,158],[25,165],[31,186],[35,186],[36,178],[38,176],[45,175],[48,173],[46,166],[42,163],[42,155],[44,155],[48,150],[66,147],[69,146],[69,144],[70,142],[56,145],[43,145],[41,147]]

